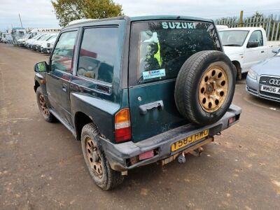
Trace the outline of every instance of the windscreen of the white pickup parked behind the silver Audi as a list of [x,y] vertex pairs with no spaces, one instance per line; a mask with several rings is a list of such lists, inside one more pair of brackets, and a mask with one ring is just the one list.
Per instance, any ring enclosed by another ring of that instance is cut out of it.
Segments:
[[249,31],[219,31],[222,44],[224,46],[243,45]]

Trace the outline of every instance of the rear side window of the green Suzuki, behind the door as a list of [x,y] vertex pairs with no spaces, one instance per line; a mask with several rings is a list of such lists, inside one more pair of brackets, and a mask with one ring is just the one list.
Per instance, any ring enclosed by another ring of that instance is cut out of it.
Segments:
[[117,52],[117,27],[85,29],[79,52],[78,75],[112,83]]

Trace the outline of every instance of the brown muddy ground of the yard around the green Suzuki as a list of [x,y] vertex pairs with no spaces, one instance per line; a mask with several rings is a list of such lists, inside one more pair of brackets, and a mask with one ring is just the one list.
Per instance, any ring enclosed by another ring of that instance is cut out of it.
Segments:
[[236,85],[240,123],[187,156],[128,172],[118,188],[95,186],[80,141],[47,123],[34,64],[47,55],[0,43],[0,209],[280,209],[280,104]]

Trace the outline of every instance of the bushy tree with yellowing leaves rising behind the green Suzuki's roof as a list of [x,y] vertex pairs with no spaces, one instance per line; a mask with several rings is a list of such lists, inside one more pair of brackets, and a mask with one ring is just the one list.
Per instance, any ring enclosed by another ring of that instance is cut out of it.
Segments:
[[56,0],[51,1],[59,25],[83,18],[111,18],[123,15],[123,8],[113,0]]

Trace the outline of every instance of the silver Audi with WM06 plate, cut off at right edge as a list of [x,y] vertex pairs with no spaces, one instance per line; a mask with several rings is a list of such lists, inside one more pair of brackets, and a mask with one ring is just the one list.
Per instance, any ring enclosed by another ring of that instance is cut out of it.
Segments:
[[260,64],[252,66],[246,78],[248,93],[280,102],[280,48],[272,50],[276,53]]

